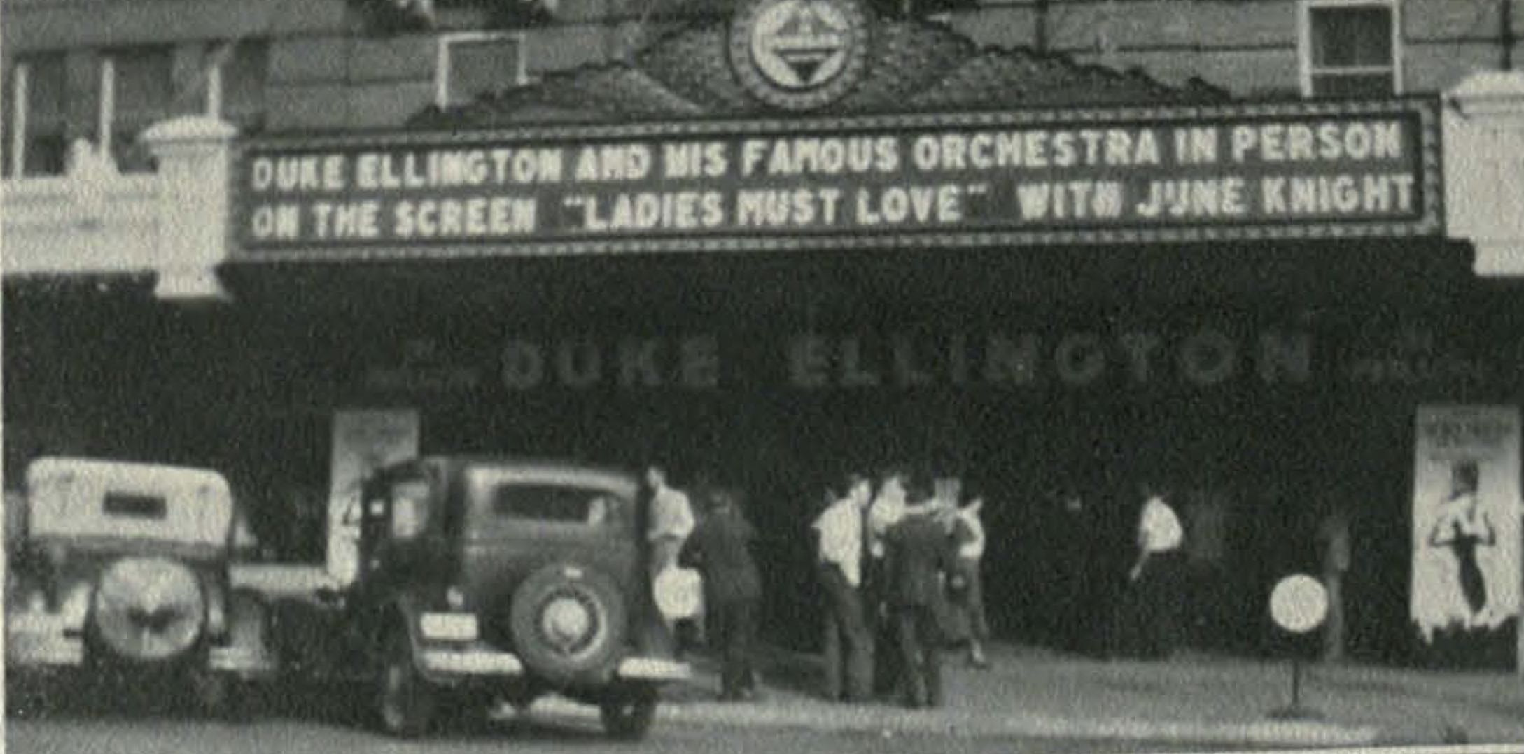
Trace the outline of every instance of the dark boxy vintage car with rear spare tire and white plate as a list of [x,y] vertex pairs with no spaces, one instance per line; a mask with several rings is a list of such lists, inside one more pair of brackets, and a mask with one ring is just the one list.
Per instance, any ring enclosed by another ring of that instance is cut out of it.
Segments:
[[663,620],[681,615],[652,596],[637,492],[628,474],[547,462],[376,472],[358,498],[355,580],[273,605],[285,678],[372,684],[358,698],[393,736],[555,692],[597,705],[611,736],[642,737],[658,685],[689,667]]

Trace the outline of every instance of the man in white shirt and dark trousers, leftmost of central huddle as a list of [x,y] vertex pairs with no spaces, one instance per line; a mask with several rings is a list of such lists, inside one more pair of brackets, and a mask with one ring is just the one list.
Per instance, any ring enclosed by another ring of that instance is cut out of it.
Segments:
[[815,518],[820,585],[824,609],[824,696],[831,701],[866,701],[873,687],[873,638],[863,611],[863,513],[867,477],[852,474],[824,512]]

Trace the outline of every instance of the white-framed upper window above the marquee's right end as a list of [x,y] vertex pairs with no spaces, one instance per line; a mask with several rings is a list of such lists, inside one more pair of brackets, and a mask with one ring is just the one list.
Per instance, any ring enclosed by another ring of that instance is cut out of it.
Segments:
[[1303,0],[1298,12],[1303,96],[1402,93],[1398,0]]

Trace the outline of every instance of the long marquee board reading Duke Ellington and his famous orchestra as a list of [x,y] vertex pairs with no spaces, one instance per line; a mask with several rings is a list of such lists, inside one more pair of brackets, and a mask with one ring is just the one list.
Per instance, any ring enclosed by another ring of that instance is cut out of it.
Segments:
[[1437,102],[706,119],[241,145],[245,259],[1439,235]]

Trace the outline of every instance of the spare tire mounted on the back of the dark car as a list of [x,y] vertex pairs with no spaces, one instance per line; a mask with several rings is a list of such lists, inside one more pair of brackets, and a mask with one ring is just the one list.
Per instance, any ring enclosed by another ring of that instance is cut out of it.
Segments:
[[628,623],[619,583],[578,564],[553,564],[529,574],[509,612],[514,647],[524,666],[558,687],[608,681]]

